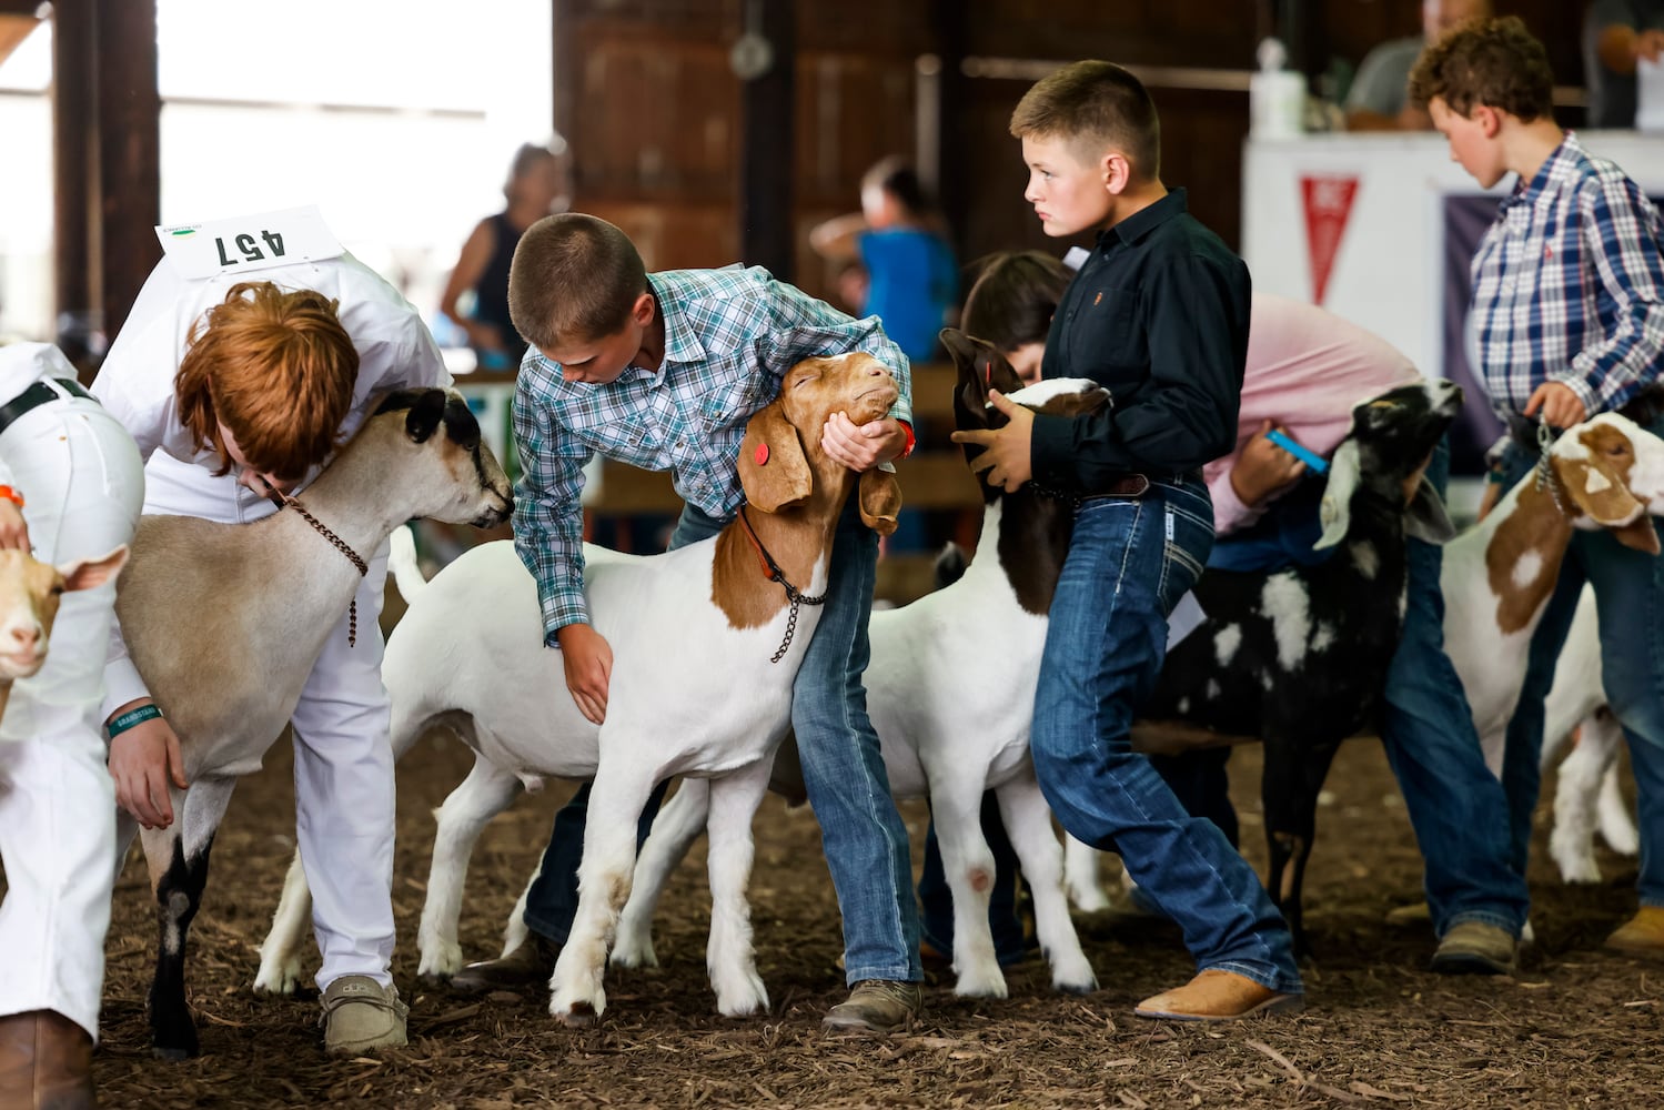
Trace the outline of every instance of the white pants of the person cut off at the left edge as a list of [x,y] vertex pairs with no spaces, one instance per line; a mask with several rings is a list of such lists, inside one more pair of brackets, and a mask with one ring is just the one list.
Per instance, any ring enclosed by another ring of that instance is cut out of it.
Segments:
[[[0,433],[35,556],[65,564],[131,543],[145,474],[97,401],[65,396]],[[0,719],[0,1015],[57,1010],[98,1038],[115,785],[105,767],[105,652],[115,582],[63,596],[47,664]]]

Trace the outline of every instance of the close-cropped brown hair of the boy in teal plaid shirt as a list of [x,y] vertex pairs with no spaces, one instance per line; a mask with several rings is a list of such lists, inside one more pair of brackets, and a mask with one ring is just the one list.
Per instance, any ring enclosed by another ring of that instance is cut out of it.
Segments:
[[624,330],[647,268],[619,228],[577,211],[526,228],[509,265],[509,318],[539,349]]

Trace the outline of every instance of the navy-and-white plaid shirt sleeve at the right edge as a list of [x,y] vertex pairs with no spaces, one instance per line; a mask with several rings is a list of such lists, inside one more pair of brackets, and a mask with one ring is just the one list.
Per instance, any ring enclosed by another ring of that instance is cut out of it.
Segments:
[[1569,386],[1592,414],[1621,406],[1657,378],[1664,354],[1664,261],[1659,213],[1629,178],[1601,175],[1582,190],[1577,206],[1584,248],[1601,281],[1604,334],[1551,378]]

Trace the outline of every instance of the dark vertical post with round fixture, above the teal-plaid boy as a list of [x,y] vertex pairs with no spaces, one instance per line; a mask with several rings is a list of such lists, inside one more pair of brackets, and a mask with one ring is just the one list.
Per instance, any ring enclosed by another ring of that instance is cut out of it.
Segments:
[[740,261],[767,266],[780,281],[792,280],[797,236],[792,226],[792,166],[795,163],[797,12],[795,0],[749,0],[747,32],[762,35],[772,60],[759,77],[742,82],[740,116]]

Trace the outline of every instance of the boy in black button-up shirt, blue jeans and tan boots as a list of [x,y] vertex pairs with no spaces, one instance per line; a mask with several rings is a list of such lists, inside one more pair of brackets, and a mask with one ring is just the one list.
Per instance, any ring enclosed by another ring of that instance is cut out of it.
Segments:
[[1200,468],[1236,446],[1248,351],[1248,270],[1160,180],[1160,125],[1143,85],[1108,62],[1042,80],[1012,113],[1047,235],[1098,228],[1052,321],[1043,378],[1092,378],[1102,416],[1035,416],[997,393],[997,431],[972,464],[1017,489],[1082,496],[1052,601],[1032,749],[1072,835],[1120,852],[1185,930],[1200,974],[1142,1017],[1233,1018],[1301,1005],[1288,927],[1220,829],[1191,817],[1132,751],[1133,712],[1161,669],[1166,614],[1213,544]]

